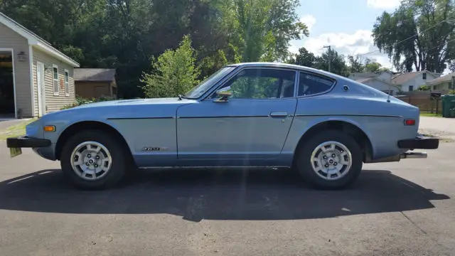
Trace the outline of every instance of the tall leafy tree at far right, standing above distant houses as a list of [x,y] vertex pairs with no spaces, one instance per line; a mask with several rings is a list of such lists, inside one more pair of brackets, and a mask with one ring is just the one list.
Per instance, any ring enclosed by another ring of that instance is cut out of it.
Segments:
[[377,18],[373,38],[397,70],[442,73],[455,55],[454,20],[453,0],[405,0]]

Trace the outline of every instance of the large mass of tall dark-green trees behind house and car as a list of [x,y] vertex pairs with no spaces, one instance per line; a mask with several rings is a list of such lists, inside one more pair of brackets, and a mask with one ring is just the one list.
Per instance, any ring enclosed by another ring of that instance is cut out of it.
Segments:
[[[116,68],[119,96],[143,97],[151,59],[191,36],[199,80],[226,63],[287,57],[308,36],[298,0],[0,0],[0,11],[77,60]],[[167,53],[167,55],[169,55]],[[160,92],[161,93],[161,92]]]

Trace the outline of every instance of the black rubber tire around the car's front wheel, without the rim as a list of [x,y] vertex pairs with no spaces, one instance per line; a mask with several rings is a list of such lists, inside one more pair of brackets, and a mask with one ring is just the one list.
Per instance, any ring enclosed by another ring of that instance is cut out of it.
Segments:
[[[71,155],[77,145],[83,142],[97,142],[105,146],[111,155],[111,165],[105,176],[89,181],[76,174],[71,165]],[[113,134],[95,129],[87,129],[77,132],[73,137],[70,137],[63,146],[60,157],[60,165],[63,174],[70,183],[78,188],[84,189],[102,189],[111,188],[124,177],[124,174],[129,169],[129,152],[124,148],[124,145],[119,142],[119,139]]]

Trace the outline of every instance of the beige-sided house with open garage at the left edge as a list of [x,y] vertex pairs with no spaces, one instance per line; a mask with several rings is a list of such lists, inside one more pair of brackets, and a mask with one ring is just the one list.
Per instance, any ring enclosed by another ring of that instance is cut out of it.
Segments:
[[75,60],[0,13],[0,115],[41,117],[73,103],[77,67]]

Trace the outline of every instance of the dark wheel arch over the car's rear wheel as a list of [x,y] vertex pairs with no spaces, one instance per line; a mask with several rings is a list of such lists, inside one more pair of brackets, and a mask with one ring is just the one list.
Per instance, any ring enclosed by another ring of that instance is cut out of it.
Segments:
[[354,122],[349,122],[347,120],[324,120],[313,124],[309,129],[307,129],[300,137],[299,142],[296,144],[294,149],[294,161],[296,152],[299,151],[300,147],[304,144],[306,139],[310,138],[314,134],[321,132],[323,130],[334,129],[350,134],[355,139],[355,142],[358,143],[363,152],[363,162],[368,162],[373,158],[373,144],[367,133],[360,128],[360,125],[355,124]]

